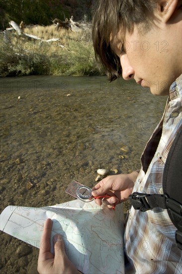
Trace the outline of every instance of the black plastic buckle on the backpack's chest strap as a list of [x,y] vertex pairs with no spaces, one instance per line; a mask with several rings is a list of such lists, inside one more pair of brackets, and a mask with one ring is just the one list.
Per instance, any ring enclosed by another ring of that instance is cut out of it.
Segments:
[[131,195],[129,195],[129,200],[134,209],[145,212],[147,210],[152,209],[149,203],[147,202],[147,196],[150,196],[150,194],[134,192]]

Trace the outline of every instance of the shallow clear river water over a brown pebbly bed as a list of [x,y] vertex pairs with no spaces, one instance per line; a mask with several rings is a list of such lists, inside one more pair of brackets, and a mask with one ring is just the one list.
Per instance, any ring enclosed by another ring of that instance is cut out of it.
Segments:
[[[1,78],[0,212],[69,201],[70,182],[92,187],[98,168],[140,168],[166,100],[104,76]],[[0,235],[1,273],[37,273],[38,250]]]

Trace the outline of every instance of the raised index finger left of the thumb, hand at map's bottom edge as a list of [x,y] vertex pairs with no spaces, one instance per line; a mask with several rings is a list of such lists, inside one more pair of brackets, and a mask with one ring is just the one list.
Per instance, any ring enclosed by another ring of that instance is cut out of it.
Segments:
[[42,257],[42,259],[45,259],[46,253],[49,252],[51,248],[51,244],[50,244],[51,229],[52,229],[52,220],[47,219],[44,223],[44,230],[43,230],[41,241],[40,241],[39,256]]

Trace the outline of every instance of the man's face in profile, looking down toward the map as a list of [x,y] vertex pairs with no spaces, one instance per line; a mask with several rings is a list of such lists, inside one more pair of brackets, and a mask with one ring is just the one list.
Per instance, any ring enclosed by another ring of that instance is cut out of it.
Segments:
[[149,87],[154,95],[168,95],[171,84],[182,73],[177,66],[180,49],[167,30],[154,25],[141,34],[135,26],[132,34],[126,33],[122,37],[120,32],[113,42],[114,51],[120,58],[122,77],[135,79],[142,87]]

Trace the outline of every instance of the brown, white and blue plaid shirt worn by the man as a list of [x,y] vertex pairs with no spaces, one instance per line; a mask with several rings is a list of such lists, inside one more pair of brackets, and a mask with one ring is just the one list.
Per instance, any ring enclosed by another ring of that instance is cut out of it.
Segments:
[[[182,125],[182,75],[170,87],[170,97],[161,122],[142,154],[142,169],[133,192],[163,194],[163,171],[168,152]],[[179,182],[180,183],[180,182]],[[182,183],[182,182],[181,182]],[[179,191],[182,187],[179,186]],[[167,210],[146,212],[132,207],[125,227],[125,272],[137,274],[182,274],[182,251],[175,243],[177,229]]]

